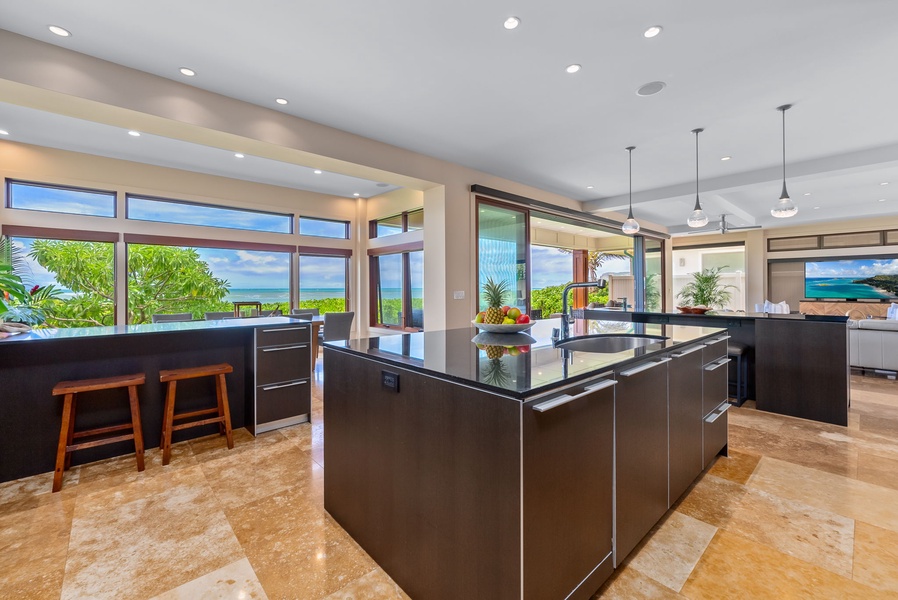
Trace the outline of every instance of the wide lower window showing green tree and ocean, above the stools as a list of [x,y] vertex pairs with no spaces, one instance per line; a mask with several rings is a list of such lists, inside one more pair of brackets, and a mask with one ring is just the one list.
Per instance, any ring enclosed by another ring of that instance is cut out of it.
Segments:
[[289,312],[290,252],[146,243],[127,248],[131,324],[149,323],[156,313],[202,319],[206,312],[234,310],[234,302]]

